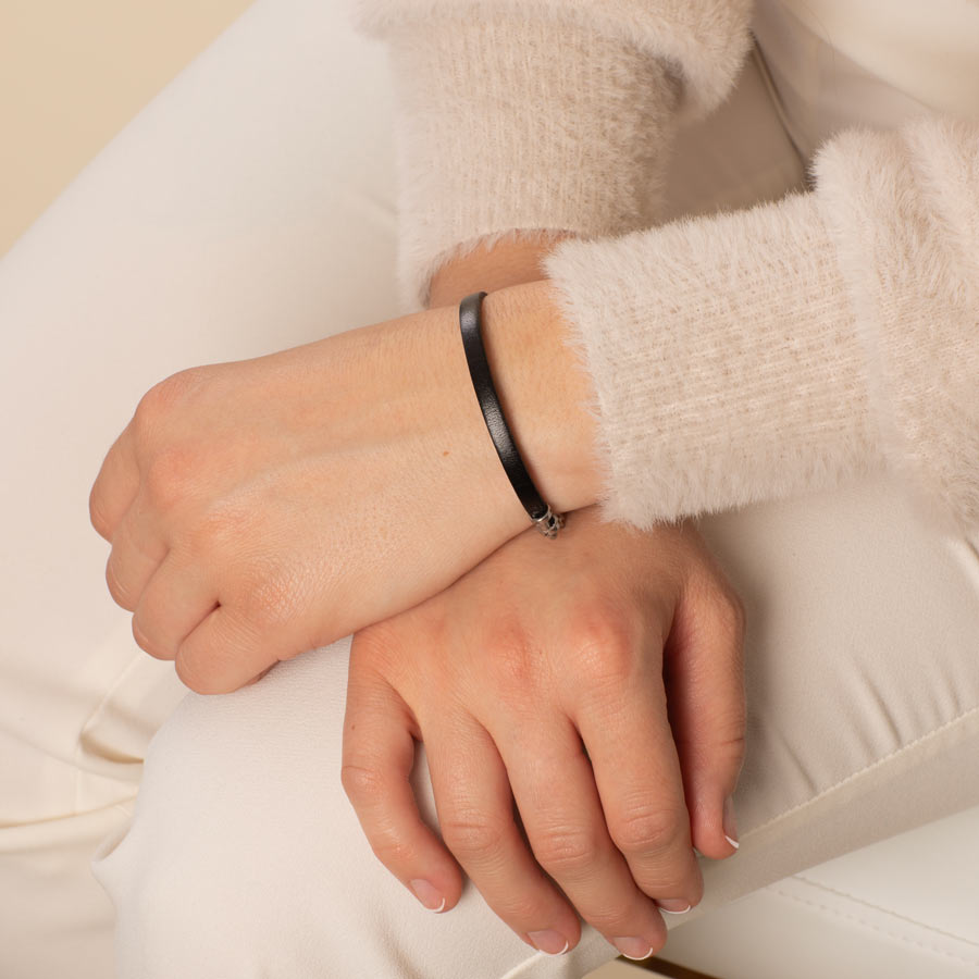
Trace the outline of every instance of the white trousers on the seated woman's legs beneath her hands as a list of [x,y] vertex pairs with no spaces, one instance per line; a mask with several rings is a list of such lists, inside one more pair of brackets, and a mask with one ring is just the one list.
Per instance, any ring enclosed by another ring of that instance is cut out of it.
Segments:
[[[148,387],[399,314],[393,111],[334,3],[259,0],[0,263],[4,979],[113,955],[120,979],[536,979],[616,954],[587,926],[533,953],[471,883],[433,916],[374,858],[339,782],[348,640],[186,694],[104,586],[88,490]],[[671,209],[801,178],[749,65],[682,137]],[[670,928],[979,804],[975,541],[889,479],[701,526],[747,608],[742,845]],[[412,778],[434,826],[421,746]]]

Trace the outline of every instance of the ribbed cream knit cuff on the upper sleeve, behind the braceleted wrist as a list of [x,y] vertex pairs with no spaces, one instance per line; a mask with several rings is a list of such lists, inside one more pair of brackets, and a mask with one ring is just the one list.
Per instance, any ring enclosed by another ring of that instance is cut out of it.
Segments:
[[498,14],[411,28],[391,61],[409,309],[480,243],[653,222],[677,98],[657,61],[588,27]]

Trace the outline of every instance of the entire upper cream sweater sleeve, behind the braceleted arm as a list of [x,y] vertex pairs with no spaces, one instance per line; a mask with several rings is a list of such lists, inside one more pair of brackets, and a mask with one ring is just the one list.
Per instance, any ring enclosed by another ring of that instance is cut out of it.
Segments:
[[396,98],[398,283],[478,244],[649,226],[676,126],[728,94],[752,0],[354,0]]

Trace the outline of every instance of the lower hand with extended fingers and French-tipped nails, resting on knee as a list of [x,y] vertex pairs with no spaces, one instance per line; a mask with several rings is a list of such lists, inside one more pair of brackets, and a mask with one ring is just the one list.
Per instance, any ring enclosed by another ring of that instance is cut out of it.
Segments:
[[[529,944],[575,945],[577,908],[641,958],[666,941],[650,899],[701,900],[691,844],[734,852],[743,611],[692,524],[640,533],[596,513],[555,541],[520,534],[355,635],[343,783],[426,906],[458,902],[455,855]],[[444,843],[412,795],[414,740]]]

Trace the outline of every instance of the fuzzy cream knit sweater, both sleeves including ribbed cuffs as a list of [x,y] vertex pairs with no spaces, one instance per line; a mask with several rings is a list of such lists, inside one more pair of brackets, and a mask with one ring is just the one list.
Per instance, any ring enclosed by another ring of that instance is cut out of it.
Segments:
[[813,193],[655,226],[676,127],[731,89],[751,7],[358,0],[398,85],[406,301],[476,243],[573,231],[544,270],[594,386],[604,519],[889,467],[924,516],[975,531],[979,124],[845,131]]

